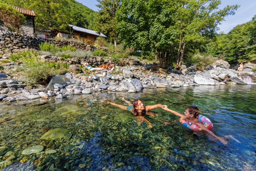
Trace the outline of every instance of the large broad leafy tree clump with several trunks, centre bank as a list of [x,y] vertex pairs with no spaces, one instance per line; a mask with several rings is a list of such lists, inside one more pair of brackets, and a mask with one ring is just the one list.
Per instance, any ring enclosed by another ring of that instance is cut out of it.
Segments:
[[[213,36],[238,5],[218,10],[220,0],[123,0],[117,13],[118,33],[126,46],[154,54],[162,64],[182,64],[189,44]],[[189,50],[187,50],[189,51]],[[175,59],[176,56],[176,59]]]

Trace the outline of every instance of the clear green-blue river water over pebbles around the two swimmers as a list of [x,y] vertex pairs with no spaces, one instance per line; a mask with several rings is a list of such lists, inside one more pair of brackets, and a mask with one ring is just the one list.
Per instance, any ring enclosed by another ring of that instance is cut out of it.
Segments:
[[[145,89],[143,93],[95,93],[65,100],[0,103],[0,167],[4,170],[256,170],[256,86],[224,85]],[[178,117],[155,109],[138,125],[122,97],[145,105],[161,103],[184,112],[200,107],[219,136],[233,135],[228,145],[184,128]],[[171,125],[165,125],[164,122]],[[69,133],[53,141],[40,137],[48,129]],[[249,133],[248,133],[249,132]],[[22,151],[43,145],[40,152]]]

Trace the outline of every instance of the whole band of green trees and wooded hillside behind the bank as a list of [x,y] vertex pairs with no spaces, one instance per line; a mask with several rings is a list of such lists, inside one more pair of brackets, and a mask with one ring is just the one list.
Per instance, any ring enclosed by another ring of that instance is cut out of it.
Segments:
[[[142,58],[179,67],[209,57],[230,64],[256,63],[256,16],[217,34],[238,5],[219,9],[221,0],[97,0],[95,12],[75,0],[0,0],[36,13],[36,28],[70,32],[68,24],[102,32],[108,41],[142,50]],[[2,16],[0,16],[2,18]]]

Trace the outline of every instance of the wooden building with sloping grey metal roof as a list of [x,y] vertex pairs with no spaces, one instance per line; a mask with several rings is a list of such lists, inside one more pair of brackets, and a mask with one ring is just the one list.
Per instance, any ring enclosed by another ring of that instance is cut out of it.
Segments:
[[81,28],[81,27],[70,25],[70,24],[68,24],[68,26],[72,28],[74,36],[78,40],[89,39],[92,41],[92,43],[94,43],[97,37],[107,38],[107,36],[105,36],[104,34],[98,33],[93,30],[88,30],[86,28]]

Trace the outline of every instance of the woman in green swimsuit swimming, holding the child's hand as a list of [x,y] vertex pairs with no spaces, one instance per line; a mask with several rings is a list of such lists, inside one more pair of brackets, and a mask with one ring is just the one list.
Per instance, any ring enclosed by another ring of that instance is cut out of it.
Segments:
[[125,101],[128,104],[128,106],[119,105],[112,102],[107,102],[107,103],[132,112],[135,116],[138,116],[138,119],[140,119],[141,122],[143,121],[147,122],[150,128],[152,128],[152,123],[150,123],[150,121],[145,119],[145,115],[154,116],[154,114],[152,112],[150,113],[149,110],[167,107],[167,105],[161,105],[161,104],[144,106],[144,103],[140,99],[134,100],[133,103],[131,103],[130,101],[127,101],[124,98],[122,98],[122,100]]

